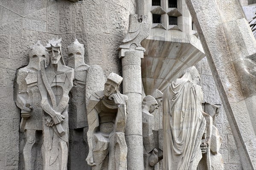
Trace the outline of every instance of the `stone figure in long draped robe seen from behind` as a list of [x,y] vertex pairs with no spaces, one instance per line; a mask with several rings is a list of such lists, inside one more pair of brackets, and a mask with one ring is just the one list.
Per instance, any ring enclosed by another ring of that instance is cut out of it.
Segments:
[[193,66],[163,94],[163,169],[196,169],[205,119],[200,76]]

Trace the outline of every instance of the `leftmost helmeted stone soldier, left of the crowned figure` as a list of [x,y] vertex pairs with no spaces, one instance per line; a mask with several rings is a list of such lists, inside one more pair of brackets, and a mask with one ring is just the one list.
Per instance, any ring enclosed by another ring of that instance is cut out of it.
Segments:
[[29,49],[29,64],[17,71],[16,105],[21,109],[20,132],[26,136],[23,149],[25,170],[35,169],[36,150],[32,150],[32,147],[38,144],[36,131],[42,133],[43,109],[37,71],[41,69],[40,62],[46,62],[46,56],[46,48],[37,42]]

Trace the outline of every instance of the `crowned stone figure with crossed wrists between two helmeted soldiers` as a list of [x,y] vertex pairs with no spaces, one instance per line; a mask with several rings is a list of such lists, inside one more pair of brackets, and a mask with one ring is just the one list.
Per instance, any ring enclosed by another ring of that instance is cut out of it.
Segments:
[[73,87],[74,69],[65,66],[61,53],[61,38],[50,40],[46,46],[50,62],[38,71],[38,88],[44,110],[42,145],[44,170],[67,170],[68,158],[68,101]]

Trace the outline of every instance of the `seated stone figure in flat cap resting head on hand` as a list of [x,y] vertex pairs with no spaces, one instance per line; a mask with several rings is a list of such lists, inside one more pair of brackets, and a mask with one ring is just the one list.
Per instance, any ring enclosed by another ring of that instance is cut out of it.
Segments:
[[128,97],[117,90],[121,82],[122,77],[111,73],[104,91],[95,92],[88,101],[89,154],[86,161],[92,170],[127,169],[124,130]]

